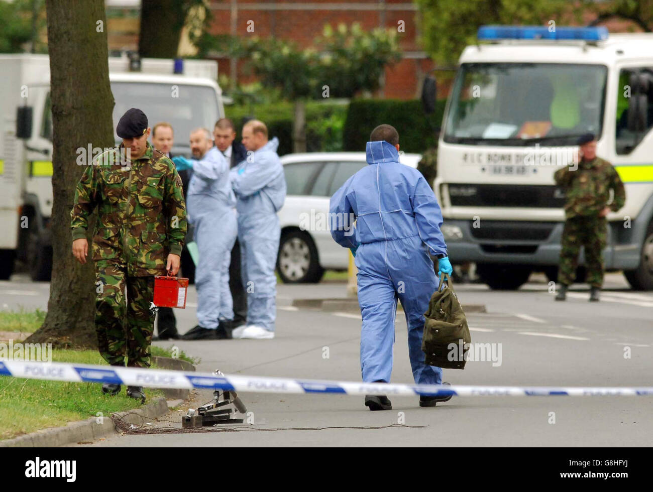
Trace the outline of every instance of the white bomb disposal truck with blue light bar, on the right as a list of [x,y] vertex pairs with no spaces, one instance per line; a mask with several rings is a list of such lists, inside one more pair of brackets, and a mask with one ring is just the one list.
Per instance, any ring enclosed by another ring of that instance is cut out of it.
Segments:
[[653,34],[483,26],[478,39],[460,56],[439,137],[451,260],[475,262],[491,288],[518,288],[534,270],[555,279],[564,196],[553,174],[592,132],[626,186],[605,266],[653,289]]

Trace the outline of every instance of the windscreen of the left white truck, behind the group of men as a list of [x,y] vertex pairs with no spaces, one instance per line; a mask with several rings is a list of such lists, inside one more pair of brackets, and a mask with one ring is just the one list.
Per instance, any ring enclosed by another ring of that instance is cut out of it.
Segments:
[[[112,82],[114,93],[114,129],[120,117],[129,108],[139,108],[148,117],[150,127],[167,121],[174,131],[174,148],[188,147],[191,131],[197,127],[213,130],[219,119],[217,96],[212,87],[202,85],[142,84]],[[120,140],[114,134],[116,142]]]

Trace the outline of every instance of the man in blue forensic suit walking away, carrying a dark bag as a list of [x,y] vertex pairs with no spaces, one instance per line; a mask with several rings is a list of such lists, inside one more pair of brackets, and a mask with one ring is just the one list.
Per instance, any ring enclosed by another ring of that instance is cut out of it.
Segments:
[[[351,249],[358,268],[362,378],[364,382],[390,382],[394,318],[400,300],[415,383],[442,384],[442,369],[426,365],[422,352],[424,313],[438,289],[429,253],[438,257],[438,274],[452,273],[440,232],[442,213],[422,174],[400,164],[396,129],[379,125],[370,140],[368,166],[347,179],[330,200],[331,235]],[[419,405],[434,407],[449,399],[450,395],[421,396]],[[385,395],[366,395],[365,405],[370,410],[392,408]]]

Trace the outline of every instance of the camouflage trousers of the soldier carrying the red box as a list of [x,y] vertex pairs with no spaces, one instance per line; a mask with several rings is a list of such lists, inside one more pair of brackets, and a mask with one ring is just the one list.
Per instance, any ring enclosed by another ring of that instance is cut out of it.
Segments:
[[125,365],[126,355],[127,367],[150,367],[154,277],[130,277],[125,265],[97,261],[95,292],[95,331],[100,355],[111,365]]

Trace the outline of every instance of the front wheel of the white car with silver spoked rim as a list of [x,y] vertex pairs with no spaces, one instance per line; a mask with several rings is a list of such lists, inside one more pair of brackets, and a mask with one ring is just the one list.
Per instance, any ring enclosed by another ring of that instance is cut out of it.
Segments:
[[311,236],[295,230],[281,236],[277,271],[283,283],[318,283],[325,271],[319,264]]

